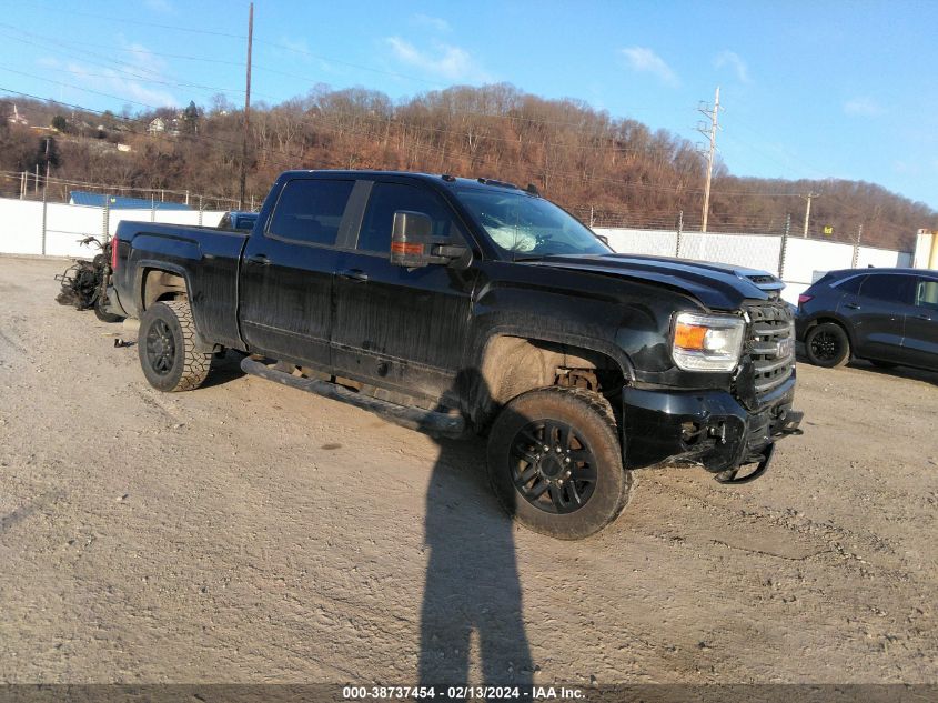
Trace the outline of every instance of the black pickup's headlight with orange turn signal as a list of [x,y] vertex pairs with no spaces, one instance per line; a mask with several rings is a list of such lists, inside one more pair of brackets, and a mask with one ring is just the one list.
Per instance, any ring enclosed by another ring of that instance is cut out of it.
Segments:
[[682,312],[674,319],[670,355],[685,371],[733,371],[745,332],[742,318]]

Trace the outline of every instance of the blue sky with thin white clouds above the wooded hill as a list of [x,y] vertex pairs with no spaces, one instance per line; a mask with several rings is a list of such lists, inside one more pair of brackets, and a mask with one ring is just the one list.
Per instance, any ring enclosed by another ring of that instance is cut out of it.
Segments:
[[[114,111],[243,103],[246,1],[4,4],[2,88]],[[938,209],[936,30],[935,0],[258,0],[252,98],[506,81],[703,141],[720,86],[730,173],[865,180]]]

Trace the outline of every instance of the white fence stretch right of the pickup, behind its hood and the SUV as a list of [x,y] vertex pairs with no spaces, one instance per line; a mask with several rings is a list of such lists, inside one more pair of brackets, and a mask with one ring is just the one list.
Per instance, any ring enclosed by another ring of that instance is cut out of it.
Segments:
[[597,229],[596,232],[606,235],[612,248],[622,253],[677,255],[768,271],[785,281],[781,295],[793,303],[811,283],[835,269],[912,265],[912,254],[908,252],[795,235],[682,232],[678,238],[676,231],[664,230]]

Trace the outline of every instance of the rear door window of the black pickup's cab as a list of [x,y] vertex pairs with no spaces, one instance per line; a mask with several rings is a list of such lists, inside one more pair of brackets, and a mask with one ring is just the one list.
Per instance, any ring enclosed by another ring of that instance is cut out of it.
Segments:
[[283,187],[268,232],[296,242],[335,244],[354,181],[300,179]]

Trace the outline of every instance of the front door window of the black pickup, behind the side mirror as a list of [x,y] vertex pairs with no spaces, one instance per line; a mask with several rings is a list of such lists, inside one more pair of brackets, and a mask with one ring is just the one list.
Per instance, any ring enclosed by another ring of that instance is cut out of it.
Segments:
[[375,183],[359,232],[361,251],[391,251],[391,225],[397,210],[427,215],[433,222],[433,237],[441,242],[463,241],[450,207],[436,193],[402,183]]

